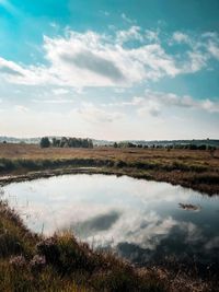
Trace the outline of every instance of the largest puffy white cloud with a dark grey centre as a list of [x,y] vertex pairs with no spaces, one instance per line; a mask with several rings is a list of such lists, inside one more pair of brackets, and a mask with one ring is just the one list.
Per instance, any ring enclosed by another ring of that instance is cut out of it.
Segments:
[[[120,38],[137,34],[137,30],[118,32]],[[137,37],[137,36],[135,36]],[[127,48],[93,32],[71,32],[68,38],[45,38],[51,71],[62,82],[81,86],[129,86],[142,80],[175,75],[174,60],[159,44]]]

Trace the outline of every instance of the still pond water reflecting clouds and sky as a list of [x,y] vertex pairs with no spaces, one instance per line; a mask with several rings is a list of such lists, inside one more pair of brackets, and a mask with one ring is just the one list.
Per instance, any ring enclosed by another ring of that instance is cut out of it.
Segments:
[[[164,256],[218,262],[219,197],[127,176],[65,175],[11,184],[4,197],[30,229],[73,230],[139,264]],[[184,210],[178,203],[200,207]]]

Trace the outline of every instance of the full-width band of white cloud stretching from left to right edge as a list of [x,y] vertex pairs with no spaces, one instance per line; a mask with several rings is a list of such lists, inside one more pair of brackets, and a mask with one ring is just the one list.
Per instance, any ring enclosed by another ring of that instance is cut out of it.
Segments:
[[[0,58],[0,77],[26,85],[127,87],[164,77],[195,73],[207,67],[210,58],[219,59],[217,34],[206,33],[197,40],[175,32],[172,40],[189,46],[172,55],[159,31],[143,32],[137,25],[112,35],[66,30],[64,36],[44,36],[47,65],[23,66]],[[128,45],[129,42],[135,45]]]

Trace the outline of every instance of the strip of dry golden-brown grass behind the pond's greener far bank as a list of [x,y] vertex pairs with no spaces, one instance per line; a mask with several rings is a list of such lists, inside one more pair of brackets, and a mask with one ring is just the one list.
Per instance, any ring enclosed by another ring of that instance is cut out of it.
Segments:
[[162,162],[173,161],[184,163],[197,163],[211,168],[219,166],[219,150],[212,156],[209,151],[173,149],[115,149],[115,148],[48,148],[42,149],[36,144],[0,144],[0,157],[5,159],[32,159],[32,160],[57,160],[57,159],[113,159],[127,162]]

